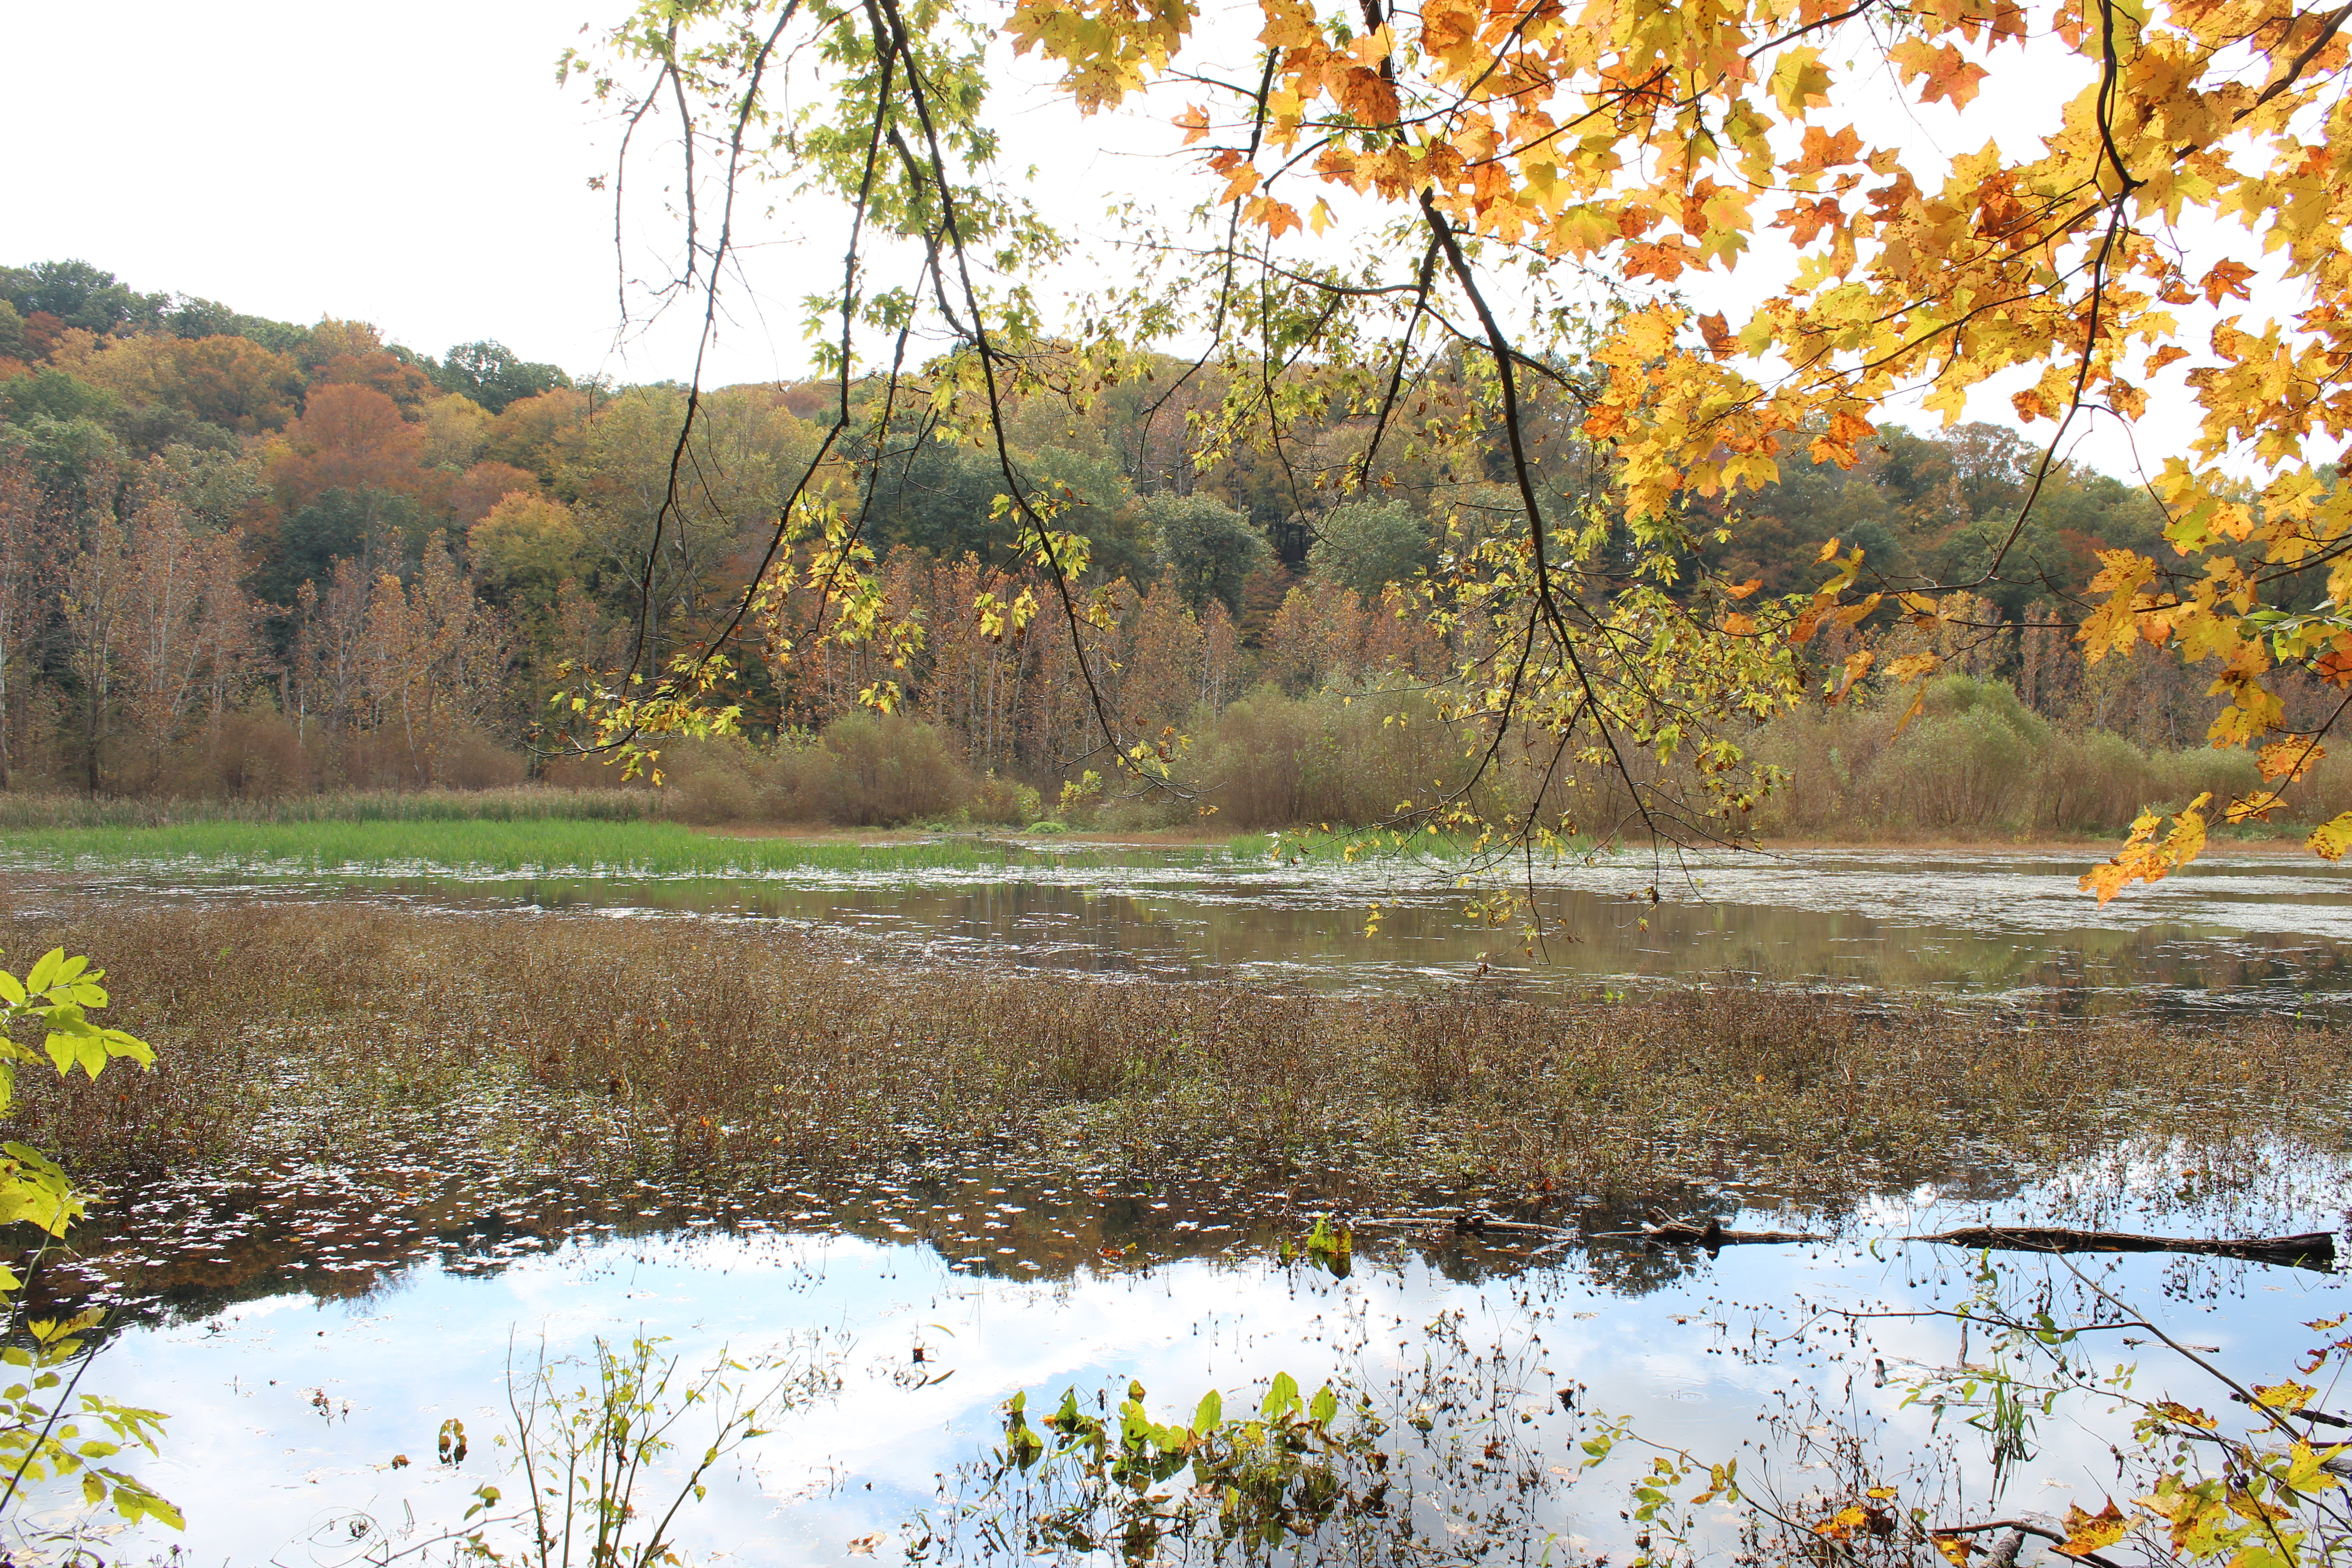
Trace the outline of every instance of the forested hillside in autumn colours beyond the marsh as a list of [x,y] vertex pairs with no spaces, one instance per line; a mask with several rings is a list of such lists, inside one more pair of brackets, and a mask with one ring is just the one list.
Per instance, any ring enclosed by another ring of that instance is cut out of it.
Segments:
[[[1378,498],[1334,501],[1329,475],[1359,444],[1345,421],[1322,430],[1329,451],[1197,461],[1188,414],[1225,390],[1169,362],[1091,397],[1033,397],[1011,421],[1014,456],[1094,545],[1103,698],[1136,733],[1169,738],[1200,799],[1235,827],[1376,818],[1461,769],[1416,705],[1461,649],[1414,585],[1465,538],[1512,527],[1517,498],[1496,484],[1496,454],[1491,473],[1406,458]],[[675,386],[574,378],[494,341],[419,355],[358,320],[303,327],[139,294],[82,261],[5,268],[0,785],[268,797],[536,773],[527,741],[567,679],[647,668],[734,616],[835,400],[828,383],[727,388],[701,400],[680,451]],[[1564,510],[1590,517],[1606,508],[1606,463],[1573,425],[1555,430],[1569,433],[1538,451],[1543,473],[1559,475]],[[1835,538],[1863,545],[1891,588],[1969,581],[2037,456],[1980,423],[1884,428],[1851,468],[1790,442],[1780,482],[1740,496],[1738,555],[1710,564],[1769,595],[1811,590]],[[821,475],[858,510],[889,609],[915,609],[922,635],[849,644],[804,621],[821,595],[781,595],[760,628],[767,658],[741,670],[750,745],[675,759],[703,776],[703,811],[1084,809],[1098,729],[1068,623],[988,635],[971,614],[981,595],[1042,592],[1009,569],[997,454],[934,440],[920,411],[868,416]],[[2176,792],[2145,752],[2199,743],[2204,679],[2171,654],[2091,670],[2067,656],[2096,550],[2157,541],[2143,491],[2053,473],[2002,585],[1959,616],[1973,630],[1936,632],[1962,675],[1919,733],[1962,745],[1936,726],[1978,733],[1983,715],[2009,715],[2016,755],[1983,741],[2006,757],[1990,797],[1926,806],[1896,773],[1870,785],[1875,762],[1830,766],[1825,750],[1875,759],[1922,743],[1893,741],[1863,682],[1804,719],[1858,726],[1844,741],[1778,722],[1766,750],[1788,752],[1804,790],[1771,820],[2084,827]],[[1891,611],[1825,632],[1809,656],[1835,672],[1858,646],[1915,635]],[[870,712],[880,684],[901,693],[898,717]],[[1992,686],[1999,703],[1973,696]],[[2096,769],[2112,799],[2037,783],[2058,766],[2034,762],[2053,736],[2091,731],[2140,757],[2138,773],[2122,752]]]

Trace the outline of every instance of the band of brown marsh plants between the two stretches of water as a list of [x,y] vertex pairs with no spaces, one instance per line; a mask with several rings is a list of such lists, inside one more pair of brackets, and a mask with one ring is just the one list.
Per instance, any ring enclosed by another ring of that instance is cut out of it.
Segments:
[[[89,952],[153,1074],[14,1135],[106,1178],[433,1131],[541,1168],[760,1185],[969,1147],[1091,1171],[1564,1201],[1733,1175],[1839,1204],[2117,1138],[2338,1147],[2347,1039],[1693,987],[1308,997],[898,966],[771,926],[230,905],[0,917]],[[2251,1166],[2249,1166],[2251,1168]]]

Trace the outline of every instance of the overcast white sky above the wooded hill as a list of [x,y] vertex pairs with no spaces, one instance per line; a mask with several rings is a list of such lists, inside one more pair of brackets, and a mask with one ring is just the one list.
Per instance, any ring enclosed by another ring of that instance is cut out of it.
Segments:
[[[132,287],[256,315],[369,320],[421,353],[494,336],[572,371],[682,376],[687,331],[614,343],[612,205],[588,186],[609,169],[607,134],[579,85],[555,85],[562,47],[623,7],[16,7],[9,49],[45,68],[14,73],[0,99],[9,146],[0,261],[80,256]],[[2023,150],[2065,87],[2037,73],[1997,75],[1964,125],[1889,101],[1863,132],[1947,153],[1980,146],[1990,125]],[[1181,167],[1141,158],[1174,141],[1157,118],[1164,108],[1082,122],[1018,85],[1000,103],[1007,165],[1049,165],[1040,200],[1065,226],[1103,228],[1108,193],[1190,183]],[[731,324],[710,381],[802,374],[797,301],[835,287],[823,242],[776,242],[748,256],[755,299],[739,303],[762,315]],[[1750,280],[1740,284],[1698,282],[1693,296],[1736,310],[1750,296]],[[1978,397],[1971,414],[2006,418],[2006,388]],[[2185,423],[2161,409],[2140,428],[2152,454],[2183,437]],[[2084,456],[2129,468],[2129,449],[2112,437],[2093,437]]]

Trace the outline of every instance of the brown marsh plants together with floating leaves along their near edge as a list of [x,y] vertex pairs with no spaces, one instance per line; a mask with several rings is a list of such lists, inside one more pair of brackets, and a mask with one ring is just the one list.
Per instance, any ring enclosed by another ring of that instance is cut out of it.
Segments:
[[1068,1272],[1268,1248],[1322,1211],[1479,1206],[1578,1234],[1661,1204],[1835,1220],[1917,1182],[2098,1171],[2100,1150],[2112,1192],[2157,1150],[2190,1190],[2251,1194],[2281,1150],[2340,1147],[2352,1084],[2343,1034],[2274,1018],[1750,987],[1317,997],[383,905],[0,919],[0,947],[59,943],[111,966],[118,1020],[160,1063],[40,1084],[19,1135],[113,1187],[120,1244],[94,1232],[82,1286],[181,1312],[696,1220]]

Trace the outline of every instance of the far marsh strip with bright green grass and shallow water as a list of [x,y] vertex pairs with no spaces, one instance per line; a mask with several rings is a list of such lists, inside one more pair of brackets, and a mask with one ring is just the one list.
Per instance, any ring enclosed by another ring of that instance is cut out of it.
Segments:
[[[1127,846],[894,835],[809,842],[675,823],[195,823],[12,835],[19,905],[390,900],[670,912],[847,931],[903,961],[1397,990],[1503,971],[1522,985],[1693,976],[2006,999],[2060,1011],[2314,1011],[2352,1001],[2352,872],[2216,846],[2100,907],[2098,846],[1595,856],[1496,867],[1536,919],[1465,914],[1458,853],[1254,835]],[[1656,898],[1651,898],[1656,893]],[[1378,912],[1374,922],[1371,914]],[[1367,926],[1376,926],[1367,931]]]

